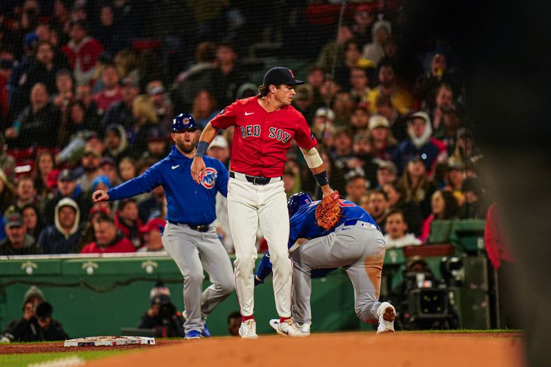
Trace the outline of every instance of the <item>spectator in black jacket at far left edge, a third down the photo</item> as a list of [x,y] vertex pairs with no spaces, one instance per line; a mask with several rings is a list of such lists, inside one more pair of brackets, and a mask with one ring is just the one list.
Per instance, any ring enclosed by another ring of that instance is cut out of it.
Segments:
[[30,105],[23,109],[12,127],[6,129],[6,138],[10,147],[54,147],[56,145],[61,114],[57,107],[48,102],[49,99],[50,95],[43,83],[37,83],[32,87]]

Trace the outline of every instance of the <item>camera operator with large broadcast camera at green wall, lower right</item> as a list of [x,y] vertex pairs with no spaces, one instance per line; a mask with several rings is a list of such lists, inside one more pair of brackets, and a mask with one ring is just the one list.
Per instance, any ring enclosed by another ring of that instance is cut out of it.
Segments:
[[404,330],[452,329],[459,327],[459,316],[450,297],[448,284],[436,280],[420,256],[410,258],[404,280],[391,293],[397,305],[397,325]]

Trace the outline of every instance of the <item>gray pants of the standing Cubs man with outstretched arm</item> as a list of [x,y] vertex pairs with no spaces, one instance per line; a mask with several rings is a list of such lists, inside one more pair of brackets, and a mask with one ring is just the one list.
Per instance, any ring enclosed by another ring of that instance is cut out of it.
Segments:
[[[202,332],[203,320],[220,302],[233,292],[233,269],[226,249],[218,239],[214,226],[199,232],[185,224],[168,223],[163,233],[163,246],[178,265],[184,277],[186,333]],[[212,283],[202,291],[203,268]]]

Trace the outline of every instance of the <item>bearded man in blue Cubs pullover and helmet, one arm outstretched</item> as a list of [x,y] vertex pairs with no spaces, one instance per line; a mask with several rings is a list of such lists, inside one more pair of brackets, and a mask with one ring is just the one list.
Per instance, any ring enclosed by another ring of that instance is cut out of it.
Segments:
[[[228,171],[219,160],[205,156],[207,174],[200,176],[201,185],[191,179],[196,129],[192,116],[179,114],[171,127],[171,138],[176,144],[166,158],[141,176],[92,194],[94,202],[101,202],[131,198],[159,185],[165,189],[167,224],[163,246],[184,277],[186,339],[210,336],[206,317],[234,289],[231,262],[211,224],[216,219],[216,192],[227,196]],[[203,267],[212,283],[204,292]]]

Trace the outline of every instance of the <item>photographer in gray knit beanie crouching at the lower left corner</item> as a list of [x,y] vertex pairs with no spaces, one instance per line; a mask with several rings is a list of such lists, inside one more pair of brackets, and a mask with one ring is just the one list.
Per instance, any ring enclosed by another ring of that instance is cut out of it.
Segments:
[[52,305],[44,295],[31,286],[23,297],[23,317],[14,319],[4,331],[2,342],[42,342],[68,339],[63,326],[52,319]]

